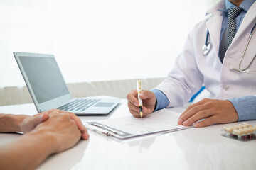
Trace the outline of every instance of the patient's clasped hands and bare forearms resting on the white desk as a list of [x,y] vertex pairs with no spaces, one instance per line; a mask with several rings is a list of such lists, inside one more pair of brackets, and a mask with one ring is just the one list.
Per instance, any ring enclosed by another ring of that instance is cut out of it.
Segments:
[[73,147],[81,137],[89,138],[75,114],[57,109],[33,116],[0,114],[0,132],[25,133],[0,146],[0,169],[35,169],[50,154]]

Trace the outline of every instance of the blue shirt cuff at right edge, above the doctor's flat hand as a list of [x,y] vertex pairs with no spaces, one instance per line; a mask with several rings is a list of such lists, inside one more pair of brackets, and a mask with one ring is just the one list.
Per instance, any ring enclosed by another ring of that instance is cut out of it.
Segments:
[[238,121],[256,120],[256,96],[228,99],[238,113]]

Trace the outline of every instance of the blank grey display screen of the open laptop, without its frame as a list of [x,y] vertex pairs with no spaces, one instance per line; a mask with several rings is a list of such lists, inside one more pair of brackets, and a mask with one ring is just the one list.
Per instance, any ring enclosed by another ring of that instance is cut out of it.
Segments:
[[69,94],[54,57],[19,58],[38,103]]

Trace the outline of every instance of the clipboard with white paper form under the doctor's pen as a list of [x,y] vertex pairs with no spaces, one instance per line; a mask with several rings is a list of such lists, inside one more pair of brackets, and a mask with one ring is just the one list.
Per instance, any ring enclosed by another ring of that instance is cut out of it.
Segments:
[[134,118],[130,115],[123,118],[92,122],[89,123],[90,127],[88,129],[92,130],[93,127],[102,128],[105,130],[105,133],[110,132],[110,135],[114,137],[127,138],[189,128],[178,125],[177,121],[180,115],[180,111],[171,111],[164,108],[147,115],[145,118]]

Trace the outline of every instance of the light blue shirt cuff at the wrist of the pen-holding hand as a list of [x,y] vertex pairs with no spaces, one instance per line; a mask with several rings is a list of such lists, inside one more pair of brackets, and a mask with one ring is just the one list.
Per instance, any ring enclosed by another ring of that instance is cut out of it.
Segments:
[[169,105],[169,100],[166,97],[166,95],[158,90],[158,89],[151,89],[151,91],[155,94],[156,96],[156,108],[154,111],[158,111],[161,108],[166,108]]

